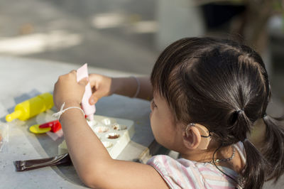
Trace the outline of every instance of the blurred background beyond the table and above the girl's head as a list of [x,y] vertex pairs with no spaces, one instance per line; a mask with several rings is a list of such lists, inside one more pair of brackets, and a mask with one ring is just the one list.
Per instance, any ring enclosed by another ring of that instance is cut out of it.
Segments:
[[1,0],[0,56],[149,74],[179,38],[232,38],[261,53],[273,95],[284,102],[283,7],[283,0]]

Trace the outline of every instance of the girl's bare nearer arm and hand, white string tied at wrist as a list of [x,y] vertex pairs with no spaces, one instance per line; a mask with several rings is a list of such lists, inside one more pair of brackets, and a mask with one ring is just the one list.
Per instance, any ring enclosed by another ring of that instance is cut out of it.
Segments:
[[[76,81],[76,72],[60,76],[53,92],[56,107],[80,107],[87,80]],[[80,109],[60,117],[72,163],[81,180],[91,188],[168,188],[151,166],[114,160],[87,125]]]

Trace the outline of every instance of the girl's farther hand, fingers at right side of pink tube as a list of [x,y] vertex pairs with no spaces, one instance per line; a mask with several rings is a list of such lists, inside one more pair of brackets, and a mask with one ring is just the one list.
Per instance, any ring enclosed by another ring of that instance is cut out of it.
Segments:
[[102,97],[112,95],[111,77],[99,74],[90,74],[89,83],[92,87],[92,96],[89,98],[89,104],[95,104]]

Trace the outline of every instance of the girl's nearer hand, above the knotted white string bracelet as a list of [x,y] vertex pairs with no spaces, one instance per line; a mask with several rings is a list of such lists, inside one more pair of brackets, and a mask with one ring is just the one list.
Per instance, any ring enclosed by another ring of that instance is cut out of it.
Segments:
[[65,104],[80,105],[84,95],[85,86],[88,83],[87,77],[77,82],[76,71],[72,70],[66,75],[60,75],[54,85],[53,102],[57,109]]

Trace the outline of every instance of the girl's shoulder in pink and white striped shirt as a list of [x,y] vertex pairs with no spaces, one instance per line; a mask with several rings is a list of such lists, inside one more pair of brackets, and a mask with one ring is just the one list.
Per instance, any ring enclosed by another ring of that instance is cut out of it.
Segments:
[[153,156],[148,162],[162,176],[170,188],[234,188],[227,178],[209,163],[184,158]]

